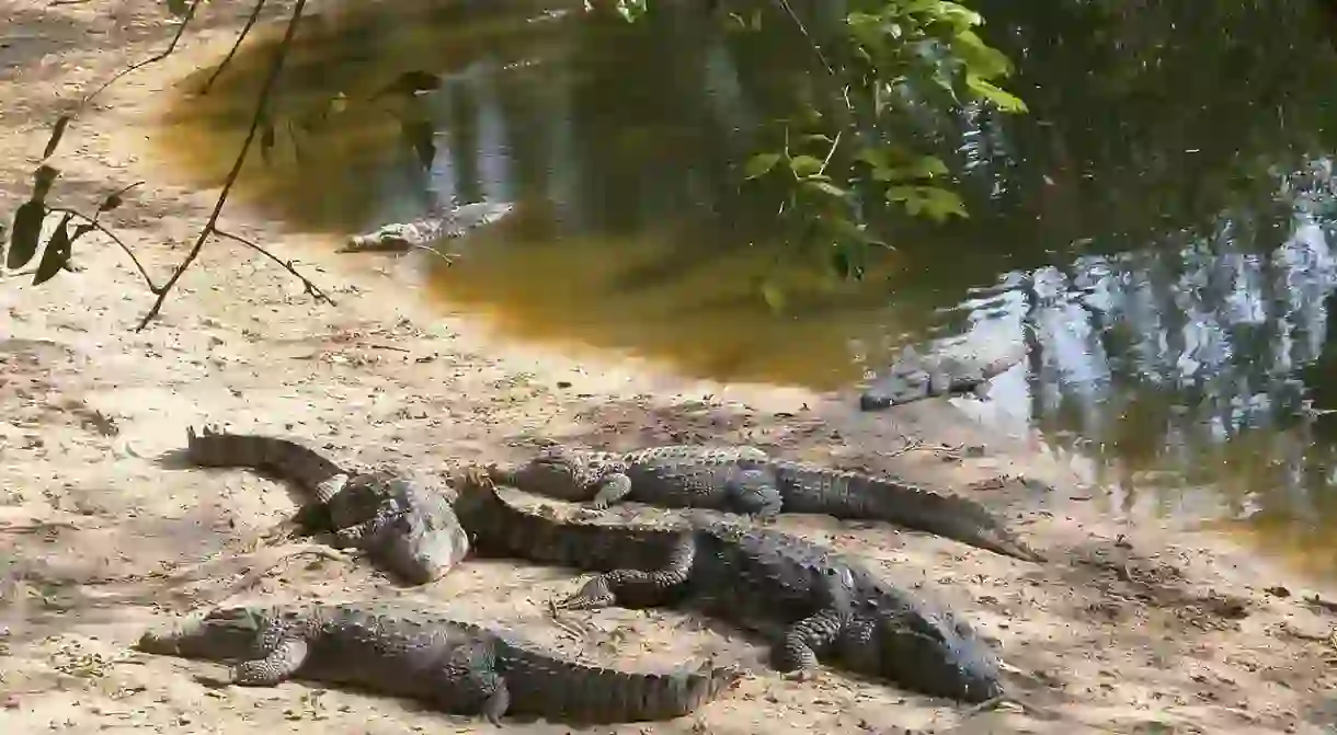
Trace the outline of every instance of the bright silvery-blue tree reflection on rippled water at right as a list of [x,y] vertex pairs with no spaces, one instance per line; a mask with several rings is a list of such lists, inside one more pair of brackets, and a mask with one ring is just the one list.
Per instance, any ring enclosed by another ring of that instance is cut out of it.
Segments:
[[1271,182],[1289,222],[1226,214],[1205,235],[1013,273],[979,317],[1034,331],[1029,420],[1107,461],[1102,480],[1128,505],[1138,485],[1206,484],[1235,513],[1334,502],[1314,493],[1329,484],[1332,437],[1313,446],[1326,422],[1298,412],[1317,398],[1306,384],[1330,380],[1337,190],[1326,160]]

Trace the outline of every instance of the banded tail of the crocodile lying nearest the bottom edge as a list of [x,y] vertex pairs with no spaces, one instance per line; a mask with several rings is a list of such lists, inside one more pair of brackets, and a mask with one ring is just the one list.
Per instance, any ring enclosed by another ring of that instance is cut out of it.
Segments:
[[639,674],[511,647],[501,662],[511,711],[590,724],[690,715],[733,688],[742,672],[709,663],[697,671]]

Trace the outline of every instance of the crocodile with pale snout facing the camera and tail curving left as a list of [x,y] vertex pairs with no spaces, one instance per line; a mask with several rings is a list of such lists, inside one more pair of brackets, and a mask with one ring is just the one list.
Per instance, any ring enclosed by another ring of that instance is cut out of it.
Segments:
[[468,555],[468,536],[440,492],[384,469],[349,472],[286,438],[209,426],[202,433],[190,428],[186,437],[186,458],[198,466],[246,466],[299,485],[310,501],[295,525],[333,533],[336,548],[365,552],[401,581],[435,581]]

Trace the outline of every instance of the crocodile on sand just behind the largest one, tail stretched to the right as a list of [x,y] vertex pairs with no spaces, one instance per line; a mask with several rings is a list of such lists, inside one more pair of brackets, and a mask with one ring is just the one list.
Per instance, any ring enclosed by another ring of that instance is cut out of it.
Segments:
[[890,478],[777,460],[746,445],[663,445],[634,452],[540,449],[516,466],[488,468],[492,480],[595,509],[620,500],[664,508],[710,508],[771,519],[820,513],[889,521],[1025,561],[1044,557],[987,508]]

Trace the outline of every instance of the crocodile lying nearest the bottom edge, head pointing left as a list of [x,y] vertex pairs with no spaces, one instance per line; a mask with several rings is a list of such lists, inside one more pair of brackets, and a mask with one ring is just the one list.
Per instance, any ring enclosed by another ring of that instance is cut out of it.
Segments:
[[517,633],[386,601],[218,607],[146,632],[144,653],[233,660],[227,683],[305,679],[416,699],[493,724],[507,714],[586,723],[683,716],[741,672],[628,672],[559,656]]

